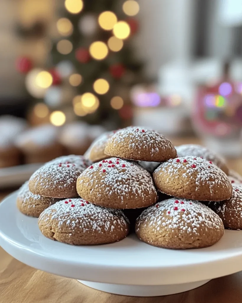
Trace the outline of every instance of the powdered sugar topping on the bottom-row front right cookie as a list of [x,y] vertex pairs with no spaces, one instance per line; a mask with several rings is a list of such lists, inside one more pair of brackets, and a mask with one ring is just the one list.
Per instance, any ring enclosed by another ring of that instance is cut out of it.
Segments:
[[180,232],[198,234],[199,228],[218,228],[222,221],[210,208],[198,201],[171,198],[150,206],[137,219],[138,230],[142,222],[151,228],[179,229]]

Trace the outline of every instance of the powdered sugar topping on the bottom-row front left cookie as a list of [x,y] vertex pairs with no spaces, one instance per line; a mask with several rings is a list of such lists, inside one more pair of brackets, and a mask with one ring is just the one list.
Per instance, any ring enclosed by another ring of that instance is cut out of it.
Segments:
[[123,230],[128,219],[121,210],[104,208],[81,198],[66,199],[55,203],[42,212],[39,220],[57,220],[59,227],[65,224],[72,230],[83,232],[112,232]]

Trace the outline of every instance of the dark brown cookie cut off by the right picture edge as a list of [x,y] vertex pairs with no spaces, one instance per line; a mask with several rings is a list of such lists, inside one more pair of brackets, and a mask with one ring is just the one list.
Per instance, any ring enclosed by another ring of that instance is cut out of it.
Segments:
[[234,186],[230,199],[209,202],[208,206],[222,219],[225,228],[242,229],[242,188]]

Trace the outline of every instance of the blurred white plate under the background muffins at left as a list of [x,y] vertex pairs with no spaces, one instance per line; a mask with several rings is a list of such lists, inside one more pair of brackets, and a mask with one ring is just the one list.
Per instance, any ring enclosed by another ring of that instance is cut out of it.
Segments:
[[0,189],[20,186],[43,164],[23,164],[0,168]]

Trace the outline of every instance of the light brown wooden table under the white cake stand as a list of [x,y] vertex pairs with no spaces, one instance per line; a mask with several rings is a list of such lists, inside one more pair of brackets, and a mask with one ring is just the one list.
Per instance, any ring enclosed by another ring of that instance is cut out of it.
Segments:
[[[242,174],[242,159],[228,161]],[[0,200],[8,192],[0,192]],[[224,264],[226,266],[226,264]],[[111,295],[31,268],[0,248],[0,303],[241,303],[242,272],[214,279],[181,294],[139,298]]]

